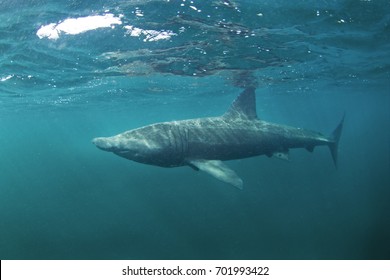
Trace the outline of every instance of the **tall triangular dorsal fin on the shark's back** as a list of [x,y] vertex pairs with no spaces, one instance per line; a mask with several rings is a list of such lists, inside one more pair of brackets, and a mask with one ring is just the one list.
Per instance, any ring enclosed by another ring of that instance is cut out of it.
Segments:
[[257,119],[255,88],[246,88],[223,115],[229,119]]

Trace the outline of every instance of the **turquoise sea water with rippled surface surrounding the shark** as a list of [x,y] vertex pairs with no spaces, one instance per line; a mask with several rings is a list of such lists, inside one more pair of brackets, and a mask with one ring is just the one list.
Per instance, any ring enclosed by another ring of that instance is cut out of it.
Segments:
[[[388,1],[0,1],[0,53],[1,259],[389,259]],[[91,143],[248,85],[267,121],[345,112],[339,168],[228,162],[240,191]]]

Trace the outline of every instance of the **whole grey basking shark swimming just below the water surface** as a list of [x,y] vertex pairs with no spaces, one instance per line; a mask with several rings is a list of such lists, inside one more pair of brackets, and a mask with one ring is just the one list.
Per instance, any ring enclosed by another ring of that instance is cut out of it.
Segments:
[[100,149],[139,163],[161,167],[190,166],[239,189],[241,178],[226,160],[267,155],[288,160],[289,149],[328,146],[337,167],[344,117],[330,136],[257,117],[255,88],[245,89],[220,117],[162,122],[98,137]]

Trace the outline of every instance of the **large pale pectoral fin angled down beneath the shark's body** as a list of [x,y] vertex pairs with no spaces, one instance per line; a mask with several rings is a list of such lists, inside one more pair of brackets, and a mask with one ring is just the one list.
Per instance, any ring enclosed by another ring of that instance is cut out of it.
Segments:
[[218,180],[231,184],[240,190],[243,189],[241,178],[220,160],[189,160],[188,165],[192,168],[196,167],[199,170],[205,171]]

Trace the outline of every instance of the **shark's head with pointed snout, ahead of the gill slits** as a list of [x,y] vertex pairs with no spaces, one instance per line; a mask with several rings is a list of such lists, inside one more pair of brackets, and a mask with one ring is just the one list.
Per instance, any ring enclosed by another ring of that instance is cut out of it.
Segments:
[[167,166],[171,147],[169,139],[161,137],[161,134],[159,137],[146,137],[147,132],[145,129],[130,130],[112,137],[94,138],[92,143],[103,151],[136,162]]

